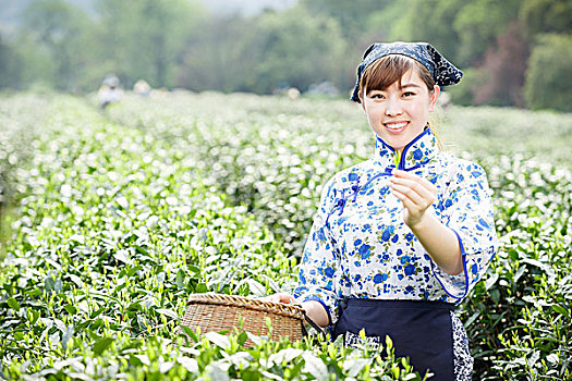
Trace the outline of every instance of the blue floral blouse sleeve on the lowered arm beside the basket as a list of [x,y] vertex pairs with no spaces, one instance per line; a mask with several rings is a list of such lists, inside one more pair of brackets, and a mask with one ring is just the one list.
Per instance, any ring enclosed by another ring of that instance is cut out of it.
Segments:
[[330,324],[336,322],[338,316],[334,279],[340,265],[327,228],[333,197],[333,179],[330,179],[321,190],[319,208],[314,217],[300,263],[299,284],[294,290],[294,297],[299,303],[319,302],[328,314]]

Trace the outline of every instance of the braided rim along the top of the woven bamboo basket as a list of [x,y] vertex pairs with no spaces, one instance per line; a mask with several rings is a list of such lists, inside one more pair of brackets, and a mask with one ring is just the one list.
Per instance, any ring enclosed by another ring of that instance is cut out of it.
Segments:
[[240,295],[227,295],[216,293],[191,294],[187,306],[193,304],[211,304],[231,307],[254,309],[256,311],[277,314],[289,318],[303,320],[304,310],[294,305],[255,299]]

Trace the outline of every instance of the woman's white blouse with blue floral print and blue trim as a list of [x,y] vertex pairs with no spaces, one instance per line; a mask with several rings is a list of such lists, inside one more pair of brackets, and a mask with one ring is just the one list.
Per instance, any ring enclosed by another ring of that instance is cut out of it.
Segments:
[[389,189],[395,155],[376,135],[374,158],[337,173],[322,188],[294,297],[320,302],[331,323],[344,297],[459,303],[496,254],[492,201],[479,165],[440,151],[429,128],[399,162],[400,170],[437,186],[433,212],[455,232],[463,255],[463,272],[450,275],[403,222],[403,206]]

